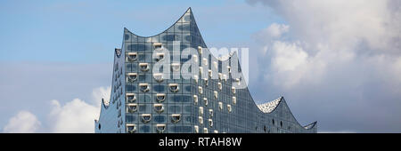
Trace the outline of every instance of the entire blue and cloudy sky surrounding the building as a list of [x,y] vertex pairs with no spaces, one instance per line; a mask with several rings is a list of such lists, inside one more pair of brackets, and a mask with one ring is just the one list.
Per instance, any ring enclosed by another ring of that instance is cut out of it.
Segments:
[[0,131],[94,132],[123,29],[188,7],[209,47],[250,48],[257,103],[319,132],[401,132],[399,0],[0,1]]

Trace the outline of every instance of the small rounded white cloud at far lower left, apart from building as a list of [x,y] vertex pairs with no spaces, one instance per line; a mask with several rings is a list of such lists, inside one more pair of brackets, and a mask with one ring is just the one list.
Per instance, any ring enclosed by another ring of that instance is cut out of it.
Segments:
[[4,126],[4,132],[37,132],[41,123],[29,111],[20,111]]

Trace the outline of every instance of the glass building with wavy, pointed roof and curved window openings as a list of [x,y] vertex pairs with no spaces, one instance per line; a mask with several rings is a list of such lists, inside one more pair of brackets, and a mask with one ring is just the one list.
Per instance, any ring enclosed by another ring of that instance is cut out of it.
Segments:
[[191,8],[156,36],[125,28],[95,132],[316,132],[316,122],[297,122],[283,97],[256,105],[234,71],[241,71],[237,54],[211,55]]

